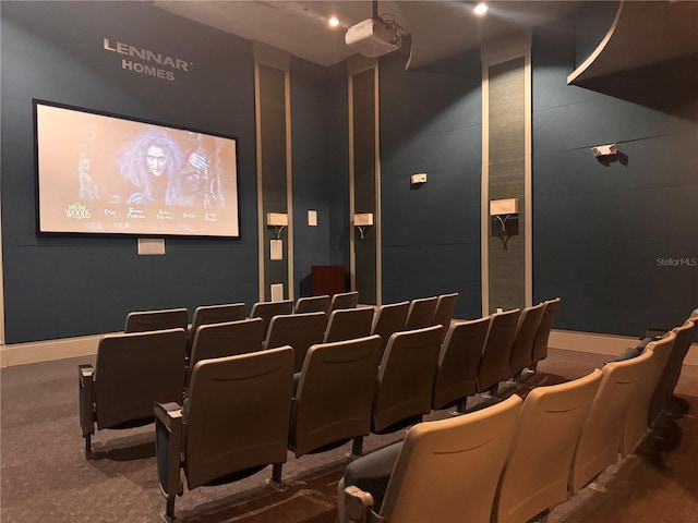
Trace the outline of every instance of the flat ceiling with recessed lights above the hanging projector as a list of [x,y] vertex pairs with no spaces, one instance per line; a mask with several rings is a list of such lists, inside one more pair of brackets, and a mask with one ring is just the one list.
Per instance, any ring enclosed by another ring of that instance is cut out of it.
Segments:
[[[345,44],[347,28],[370,19],[373,2],[281,0],[153,0],[155,7],[217,27],[243,38],[261,41],[321,65],[333,65],[354,51]],[[471,1],[380,1],[378,15],[395,20],[411,35],[411,66],[438,60],[472,48],[483,38],[576,12],[578,1],[491,1],[484,17],[473,13]],[[327,20],[340,24],[330,28]]]

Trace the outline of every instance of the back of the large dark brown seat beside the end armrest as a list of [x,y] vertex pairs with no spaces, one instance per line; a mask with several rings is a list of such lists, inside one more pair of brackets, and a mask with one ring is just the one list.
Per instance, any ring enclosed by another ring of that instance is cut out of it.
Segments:
[[183,414],[189,489],[286,462],[292,390],[290,346],[198,362]]

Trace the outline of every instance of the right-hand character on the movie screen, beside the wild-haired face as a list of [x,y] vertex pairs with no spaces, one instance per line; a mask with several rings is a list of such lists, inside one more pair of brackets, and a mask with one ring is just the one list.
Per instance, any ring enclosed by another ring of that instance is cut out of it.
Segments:
[[219,153],[221,141],[188,133],[186,166],[179,173],[178,204],[188,207],[224,207]]

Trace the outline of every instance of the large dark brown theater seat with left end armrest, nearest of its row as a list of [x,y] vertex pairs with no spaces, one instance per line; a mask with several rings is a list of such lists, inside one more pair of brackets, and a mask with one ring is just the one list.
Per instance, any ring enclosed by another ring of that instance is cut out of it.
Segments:
[[[181,470],[192,490],[286,462],[292,387],[293,350],[285,346],[198,362],[185,405],[155,405],[157,474],[168,521],[183,494]],[[272,481],[280,485],[281,478]]]

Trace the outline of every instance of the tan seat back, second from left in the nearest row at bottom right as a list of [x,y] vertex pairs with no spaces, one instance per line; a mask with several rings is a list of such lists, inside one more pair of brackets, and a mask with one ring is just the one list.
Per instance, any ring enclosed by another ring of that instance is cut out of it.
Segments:
[[493,521],[520,523],[567,500],[573,454],[601,370],[527,396],[500,481]]

